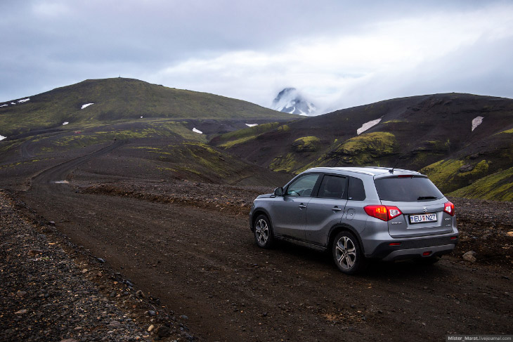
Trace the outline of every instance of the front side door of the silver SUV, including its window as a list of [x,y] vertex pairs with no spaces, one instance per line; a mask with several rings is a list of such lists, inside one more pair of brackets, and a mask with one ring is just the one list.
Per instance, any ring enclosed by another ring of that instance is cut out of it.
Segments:
[[319,173],[307,173],[285,188],[271,207],[271,219],[276,235],[305,239],[306,211],[319,179]]

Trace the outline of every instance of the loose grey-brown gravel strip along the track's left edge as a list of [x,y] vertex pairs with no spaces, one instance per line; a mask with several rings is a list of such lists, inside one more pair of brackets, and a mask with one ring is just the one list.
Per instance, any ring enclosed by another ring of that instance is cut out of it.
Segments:
[[[1,341],[193,341],[158,298],[0,190]],[[185,328],[185,329],[184,329]]]

